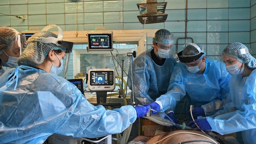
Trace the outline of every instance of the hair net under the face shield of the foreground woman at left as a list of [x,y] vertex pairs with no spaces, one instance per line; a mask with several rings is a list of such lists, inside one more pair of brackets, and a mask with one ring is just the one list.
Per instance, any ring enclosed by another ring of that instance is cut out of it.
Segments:
[[[40,31],[35,33],[33,37],[55,37],[58,36],[50,31]],[[53,50],[61,50],[66,51],[66,48],[57,46],[53,43],[41,43],[41,42],[30,42],[28,43],[27,48],[22,52],[20,58],[18,60],[18,65],[25,66],[36,66],[44,62],[45,57],[49,53],[49,51]]]

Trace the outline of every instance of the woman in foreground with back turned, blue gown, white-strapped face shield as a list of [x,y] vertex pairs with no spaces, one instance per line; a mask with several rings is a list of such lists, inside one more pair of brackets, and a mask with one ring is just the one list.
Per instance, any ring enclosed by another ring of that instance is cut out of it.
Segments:
[[53,133],[88,138],[116,134],[148,112],[150,106],[95,107],[58,76],[73,46],[62,41],[58,29],[58,36],[50,31],[31,36],[19,67],[0,77],[0,143],[43,143]]

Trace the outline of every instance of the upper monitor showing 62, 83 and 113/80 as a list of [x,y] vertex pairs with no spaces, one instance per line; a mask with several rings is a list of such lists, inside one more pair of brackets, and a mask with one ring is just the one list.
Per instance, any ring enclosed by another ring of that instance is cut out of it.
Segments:
[[88,33],[89,51],[113,51],[112,33]]

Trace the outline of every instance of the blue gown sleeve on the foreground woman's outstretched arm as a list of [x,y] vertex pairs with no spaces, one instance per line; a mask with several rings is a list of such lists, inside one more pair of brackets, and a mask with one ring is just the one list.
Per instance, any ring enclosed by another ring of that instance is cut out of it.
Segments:
[[106,110],[101,105],[94,107],[84,97],[81,97],[74,114],[56,133],[95,138],[121,133],[135,120],[136,112],[132,106]]

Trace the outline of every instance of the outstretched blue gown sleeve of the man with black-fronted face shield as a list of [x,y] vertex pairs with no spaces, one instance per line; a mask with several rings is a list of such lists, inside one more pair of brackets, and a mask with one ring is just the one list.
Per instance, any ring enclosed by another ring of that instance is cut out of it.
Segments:
[[161,95],[156,100],[162,103],[162,109],[160,112],[164,112],[165,110],[175,110],[176,104],[185,96],[186,89],[184,85],[184,76],[182,76],[182,72],[180,69],[180,64],[178,63],[173,70],[170,84],[168,87],[168,92],[164,95]]

